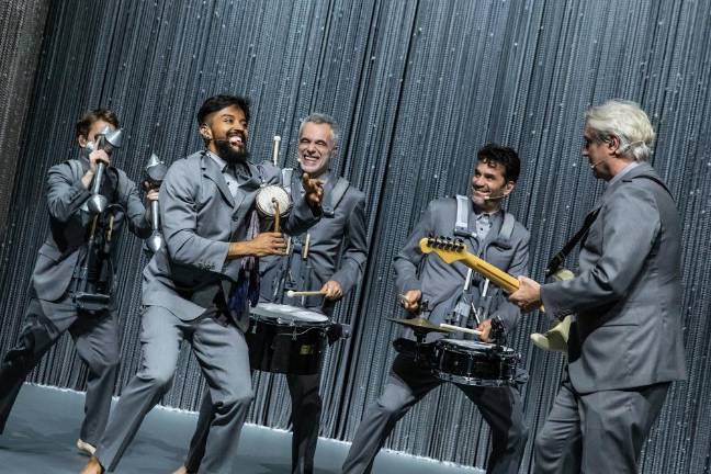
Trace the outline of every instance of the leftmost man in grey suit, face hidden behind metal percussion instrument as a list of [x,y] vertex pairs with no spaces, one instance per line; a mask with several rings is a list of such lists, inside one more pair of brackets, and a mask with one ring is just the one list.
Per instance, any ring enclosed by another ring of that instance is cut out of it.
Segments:
[[[89,365],[84,420],[77,448],[92,454],[109,420],[111,395],[119,366],[115,290],[116,238],[124,222],[138,237],[150,235],[150,221],[138,190],[126,173],[110,166],[111,155],[97,148],[98,136],[106,127],[116,129],[119,119],[105,109],[88,112],[77,122],[76,137],[81,156],[55,165],[47,173],[47,210],[50,232],[40,248],[32,273],[30,304],[18,345],[0,364],[0,432],[25,376],[44,353],[69,331],[81,360]],[[91,215],[84,207],[97,165],[106,166],[100,193],[108,210]],[[158,198],[157,191],[147,194]],[[111,221],[113,219],[113,221]],[[94,228],[94,238],[89,239]],[[111,237],[114,236],[114,237]],[[81,270],[86,270],[86,278]],[[95,307],[82,305],[77,296],[87,285],[108,296]]]

